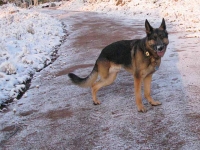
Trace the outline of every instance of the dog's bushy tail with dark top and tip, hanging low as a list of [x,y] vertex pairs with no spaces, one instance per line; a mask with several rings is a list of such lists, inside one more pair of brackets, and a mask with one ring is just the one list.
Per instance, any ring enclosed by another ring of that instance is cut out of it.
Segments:
[[97,64],[95,64],[92,72],[86,78],[80,78],[73,73],[69,73],[68,76],[71,81],[80,87],[91,87],[92,84],[97,80],[98,69]]

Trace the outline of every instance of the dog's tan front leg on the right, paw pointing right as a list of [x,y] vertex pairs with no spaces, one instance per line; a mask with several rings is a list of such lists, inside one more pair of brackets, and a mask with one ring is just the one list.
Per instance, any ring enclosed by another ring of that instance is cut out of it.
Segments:
[[154,101],[153,98],[151,97],[151,80],[152,80],[152,74],[144,78],[144,96],[151,105],[157,106],[160,105],[161,102]]

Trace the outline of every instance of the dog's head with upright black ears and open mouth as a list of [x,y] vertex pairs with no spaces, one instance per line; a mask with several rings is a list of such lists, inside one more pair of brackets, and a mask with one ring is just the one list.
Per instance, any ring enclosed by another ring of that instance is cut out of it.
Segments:
[[149,52],[154,56],[163,57],[169,44],[164,18],[159,28],[151,27],[148,20],[146,20],[145,28],[147,33],[146,46]]

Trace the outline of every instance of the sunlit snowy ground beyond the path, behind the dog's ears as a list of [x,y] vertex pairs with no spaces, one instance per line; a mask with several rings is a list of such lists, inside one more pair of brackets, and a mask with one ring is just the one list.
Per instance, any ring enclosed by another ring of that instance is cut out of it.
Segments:
[[[119,19],[150,19],[165,18],[173,23],[174,30],[195,32],[189,37],[200,37],[200,1],[197,0],[70,0],[60,9],[103,12]],[[161,20],[161,19],[160,19]]]

